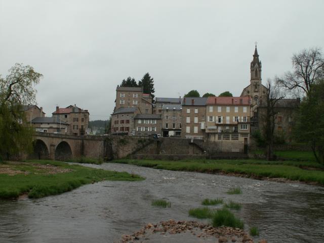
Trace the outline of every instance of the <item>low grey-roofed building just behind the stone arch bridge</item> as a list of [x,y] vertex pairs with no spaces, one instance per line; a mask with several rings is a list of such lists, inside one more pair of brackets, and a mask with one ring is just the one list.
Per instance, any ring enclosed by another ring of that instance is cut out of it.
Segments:
[[70,125],[58,121],[57,117],[35,117],[31,124],[36,132],[70,134]]

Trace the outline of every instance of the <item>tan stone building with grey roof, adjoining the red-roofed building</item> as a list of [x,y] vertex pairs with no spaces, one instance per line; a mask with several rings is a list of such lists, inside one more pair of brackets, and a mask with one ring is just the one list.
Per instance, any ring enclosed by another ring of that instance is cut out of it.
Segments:
[[207,98],[185,97],[182,100],[181,137],[205,139]]

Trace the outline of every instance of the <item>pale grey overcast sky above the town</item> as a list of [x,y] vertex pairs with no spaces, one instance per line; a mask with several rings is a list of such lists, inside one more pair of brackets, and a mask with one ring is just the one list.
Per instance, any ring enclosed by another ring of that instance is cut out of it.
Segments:
[[115,88],[149,72],[157,97],[230,91],[250,82],[254,43],[262,79],[291,70],[291,56],[323,48],[324,1],[0,0],[0,73],[16,62],[44,77],[37,102],[112,112]]

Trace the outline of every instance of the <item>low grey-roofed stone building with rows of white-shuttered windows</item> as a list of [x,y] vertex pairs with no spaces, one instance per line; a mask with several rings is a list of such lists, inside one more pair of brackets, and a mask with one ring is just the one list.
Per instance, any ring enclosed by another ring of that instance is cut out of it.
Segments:
[[162,119],[160,114],[137,114],[134,117],[135,135],[149,136],[161,133]]

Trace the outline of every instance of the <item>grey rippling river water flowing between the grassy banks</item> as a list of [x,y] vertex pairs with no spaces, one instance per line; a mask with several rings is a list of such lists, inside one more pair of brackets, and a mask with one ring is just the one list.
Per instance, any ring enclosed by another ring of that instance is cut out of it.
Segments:
[[[0,200],[0,242],[114,242],[149,222],[195,220],[188,210],[201,207],[204,198],[241,203],[234,212],[246,230],[259,227],[255,242],[324,242],[324,187],[122,164],[88,166],[146,180],[104,181],[41,199]],[[234,186],[242,194],[226,193]],[[154,199],[171,201],[171,208],[152,207]]]

